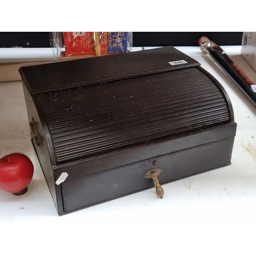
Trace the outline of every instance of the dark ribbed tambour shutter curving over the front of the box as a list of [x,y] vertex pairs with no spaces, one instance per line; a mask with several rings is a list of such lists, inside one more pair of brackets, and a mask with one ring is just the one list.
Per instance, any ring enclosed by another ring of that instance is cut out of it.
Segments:
[[58,163],[203,130],[230,120],[197,68],[37,95]]

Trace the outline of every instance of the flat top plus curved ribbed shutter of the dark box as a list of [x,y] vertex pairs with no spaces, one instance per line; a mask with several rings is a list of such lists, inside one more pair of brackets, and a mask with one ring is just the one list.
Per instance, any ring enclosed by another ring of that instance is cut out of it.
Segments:
[[[197,61],[172,47],[144,52],[83,59],[84,67],[82,60],[72,60],[66,65],[59,62],[22,68],[24,82],[47,124],[57,164],[112,154],[233,121],[222,86]],[[148,57],[151,55],[155,57]],[[115,66],[104,68],[101,58],[105,65]],[[184,63],[168,63],[177,60]],[[91,71],[95,74],[76,77],[72,68],[69,77],[66,69],[72,63],[80,71],[94,67],[96,70]],[[63,65],[65,70],[61,71]],[[46,83],[45,91],[38,84],[30,87],[36,75],[46,72],[50,76],[50,70],[59,75],[52,75],[50,81],[47,76],[38,78],[41,86]],[[63,83],[61,73],[70,84]],[[50,91],[53,81],[63,87]]]

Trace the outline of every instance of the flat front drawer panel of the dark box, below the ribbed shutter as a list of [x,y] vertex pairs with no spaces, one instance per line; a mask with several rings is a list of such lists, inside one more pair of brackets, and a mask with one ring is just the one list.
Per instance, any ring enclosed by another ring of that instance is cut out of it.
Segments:
[[228,164],[231,138],[147,159],[61,184],[65,212],[135,193],[154,186],[143,176],[161,168],[160,183],[167,183]]

